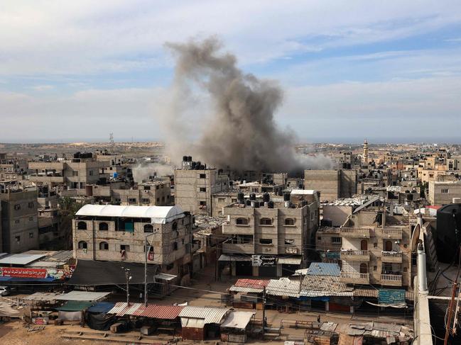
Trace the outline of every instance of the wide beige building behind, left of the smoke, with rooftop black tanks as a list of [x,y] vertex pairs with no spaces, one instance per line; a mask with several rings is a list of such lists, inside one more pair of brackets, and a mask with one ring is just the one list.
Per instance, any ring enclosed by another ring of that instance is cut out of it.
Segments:
[[28,179],[50,187],[65,185],[70,189],[83,190],[100,179],[108,179],[108,173],[100,173],[107,166],[109,161],[100,162],[91,153],[77,152],[72,159],[62,162],[29,162],[29,169],[35,172],[29,174]]

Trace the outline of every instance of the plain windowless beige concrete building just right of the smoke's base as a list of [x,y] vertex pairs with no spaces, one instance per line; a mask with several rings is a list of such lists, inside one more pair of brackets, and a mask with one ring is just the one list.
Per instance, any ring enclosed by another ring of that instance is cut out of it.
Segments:
[[357,193],[357,171],[347,169],[305,170],[304,188],[320,191],[321,201],[351,198]]

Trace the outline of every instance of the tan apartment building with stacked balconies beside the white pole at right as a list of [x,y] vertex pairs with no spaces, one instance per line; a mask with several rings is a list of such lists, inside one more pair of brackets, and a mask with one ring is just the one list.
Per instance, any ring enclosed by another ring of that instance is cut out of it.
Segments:
[[[335,242],[339,243],[338,237],[341,238],[340,281],[395,287],[411,285],[411,226],[404,217],[364,209],[351,215],[337,233]],[[321,232],[320,236],[323,239]]]

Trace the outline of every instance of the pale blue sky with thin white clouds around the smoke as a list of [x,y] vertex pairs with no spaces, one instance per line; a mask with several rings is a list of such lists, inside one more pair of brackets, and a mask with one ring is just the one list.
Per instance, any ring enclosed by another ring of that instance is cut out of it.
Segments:
[[300,142],[460,142],[461,1],[1,1],[0,142],[163,140],[166,42],[276,79]]

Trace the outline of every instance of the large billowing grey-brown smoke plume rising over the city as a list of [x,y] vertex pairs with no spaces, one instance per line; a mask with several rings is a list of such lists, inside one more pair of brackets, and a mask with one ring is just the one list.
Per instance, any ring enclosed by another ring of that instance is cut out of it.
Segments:
[[[293,132],[276,125],[273,114],[283,98],[276,81],[244,74],[234,55],[220,52],[217,38],[166,45],[176,57],[175,81],[163,118],[172,159],[191,154],[210,166],[268,172],[332,166],[327,157],[298,156]],[[188,114],[190,107],[202,104],[193,96],[197,90],[210,98],[209,116]],[[193,144],[187,138],[190,128],[198,132]]]

